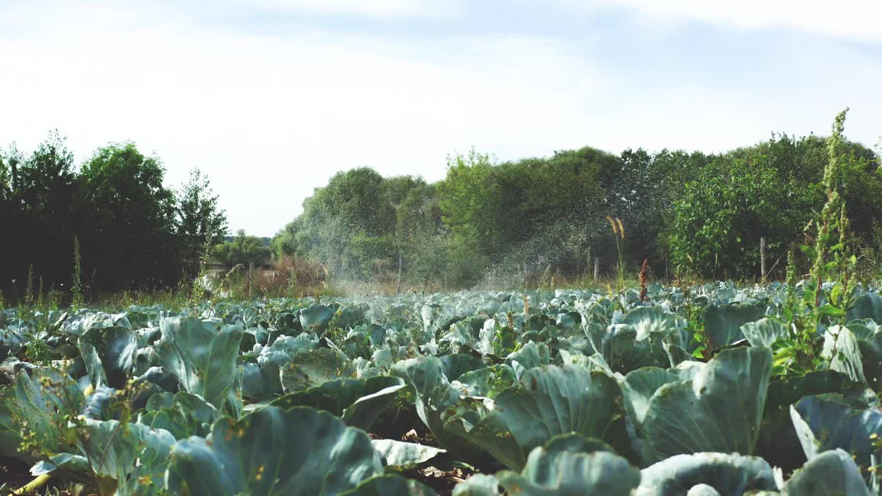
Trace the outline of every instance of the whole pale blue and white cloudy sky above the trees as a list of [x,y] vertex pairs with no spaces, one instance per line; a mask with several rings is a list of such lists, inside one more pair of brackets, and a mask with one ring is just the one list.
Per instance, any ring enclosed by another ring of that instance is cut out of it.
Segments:
[[0,0],[0,147],[131,140],[273,236],[340,170],[882,135],[878,0]]

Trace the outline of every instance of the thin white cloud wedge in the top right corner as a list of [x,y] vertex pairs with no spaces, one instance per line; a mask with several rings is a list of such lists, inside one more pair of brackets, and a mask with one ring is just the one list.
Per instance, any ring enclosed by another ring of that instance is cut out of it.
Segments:
[[563,0],[571,7],[624,7],[662,19],[695,19],[742,28],[788,28],[847,40],[882,42],[878,0]]

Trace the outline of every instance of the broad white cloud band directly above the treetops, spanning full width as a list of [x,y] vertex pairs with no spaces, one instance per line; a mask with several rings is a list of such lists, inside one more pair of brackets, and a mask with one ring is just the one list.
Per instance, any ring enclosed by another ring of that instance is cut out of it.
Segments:
[[[688,79],[657,87],[653,74],[598,66],[585,47],[540,37],[122,30],[92,12],[58,12],[39,34],[0,34],[0,146],[33,149],[57,127],[83,160],[134,139],[160,154],[171,184],[206,171],[230,227],[258,235],[293,219],[335,171],[437,180],[445,155],[471,146],[501,159],[586,145],[722,150],[771,131],[827,132],[847,104],[849,137],[869,144],[879,133],[882,67],[852,52],[795,50],[785,90],[761,77],[741,90]],[[818,60],[839,66],[829,77],[802,71]]]

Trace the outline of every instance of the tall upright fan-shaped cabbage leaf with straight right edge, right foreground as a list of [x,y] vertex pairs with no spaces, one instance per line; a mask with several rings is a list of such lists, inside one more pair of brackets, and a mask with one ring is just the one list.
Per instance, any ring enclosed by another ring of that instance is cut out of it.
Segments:
[[751,454],[771,372],[768,349],[727,349],[694,379],[660,387],[644,422],[657,459],[696,452]]

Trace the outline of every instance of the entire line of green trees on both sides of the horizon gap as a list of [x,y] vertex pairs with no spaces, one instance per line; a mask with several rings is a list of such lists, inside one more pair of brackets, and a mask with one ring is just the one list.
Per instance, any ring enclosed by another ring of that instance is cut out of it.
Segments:
[[[854,243],[878,270],[879,156],[856,142],[842,148],[836,181]],[[498,162],[473,150],[449,156],[445,178],[431,184],[351,169],[304,199],[267,248],[243,232],[209,244],[226,236],[227,221],[198,169],[169,189],[161,160],[132,143],[101,147],[77,167],[51,132],[30,154],[0,149],[0,290],[11,299],[65,292],[77,266],[95,294],[174,288],[206,257],[304,260],[336,279],[399,290],[580,278],[594,259],[609,276],[635,274],[648,259],[656,277],[759,280],[760,238],[768,275],[781,277],[786,264],[776,262],[811,244],[805,226],[823,205],[828,160],[825,139],[776,134],[720,154],[584,147]]]

